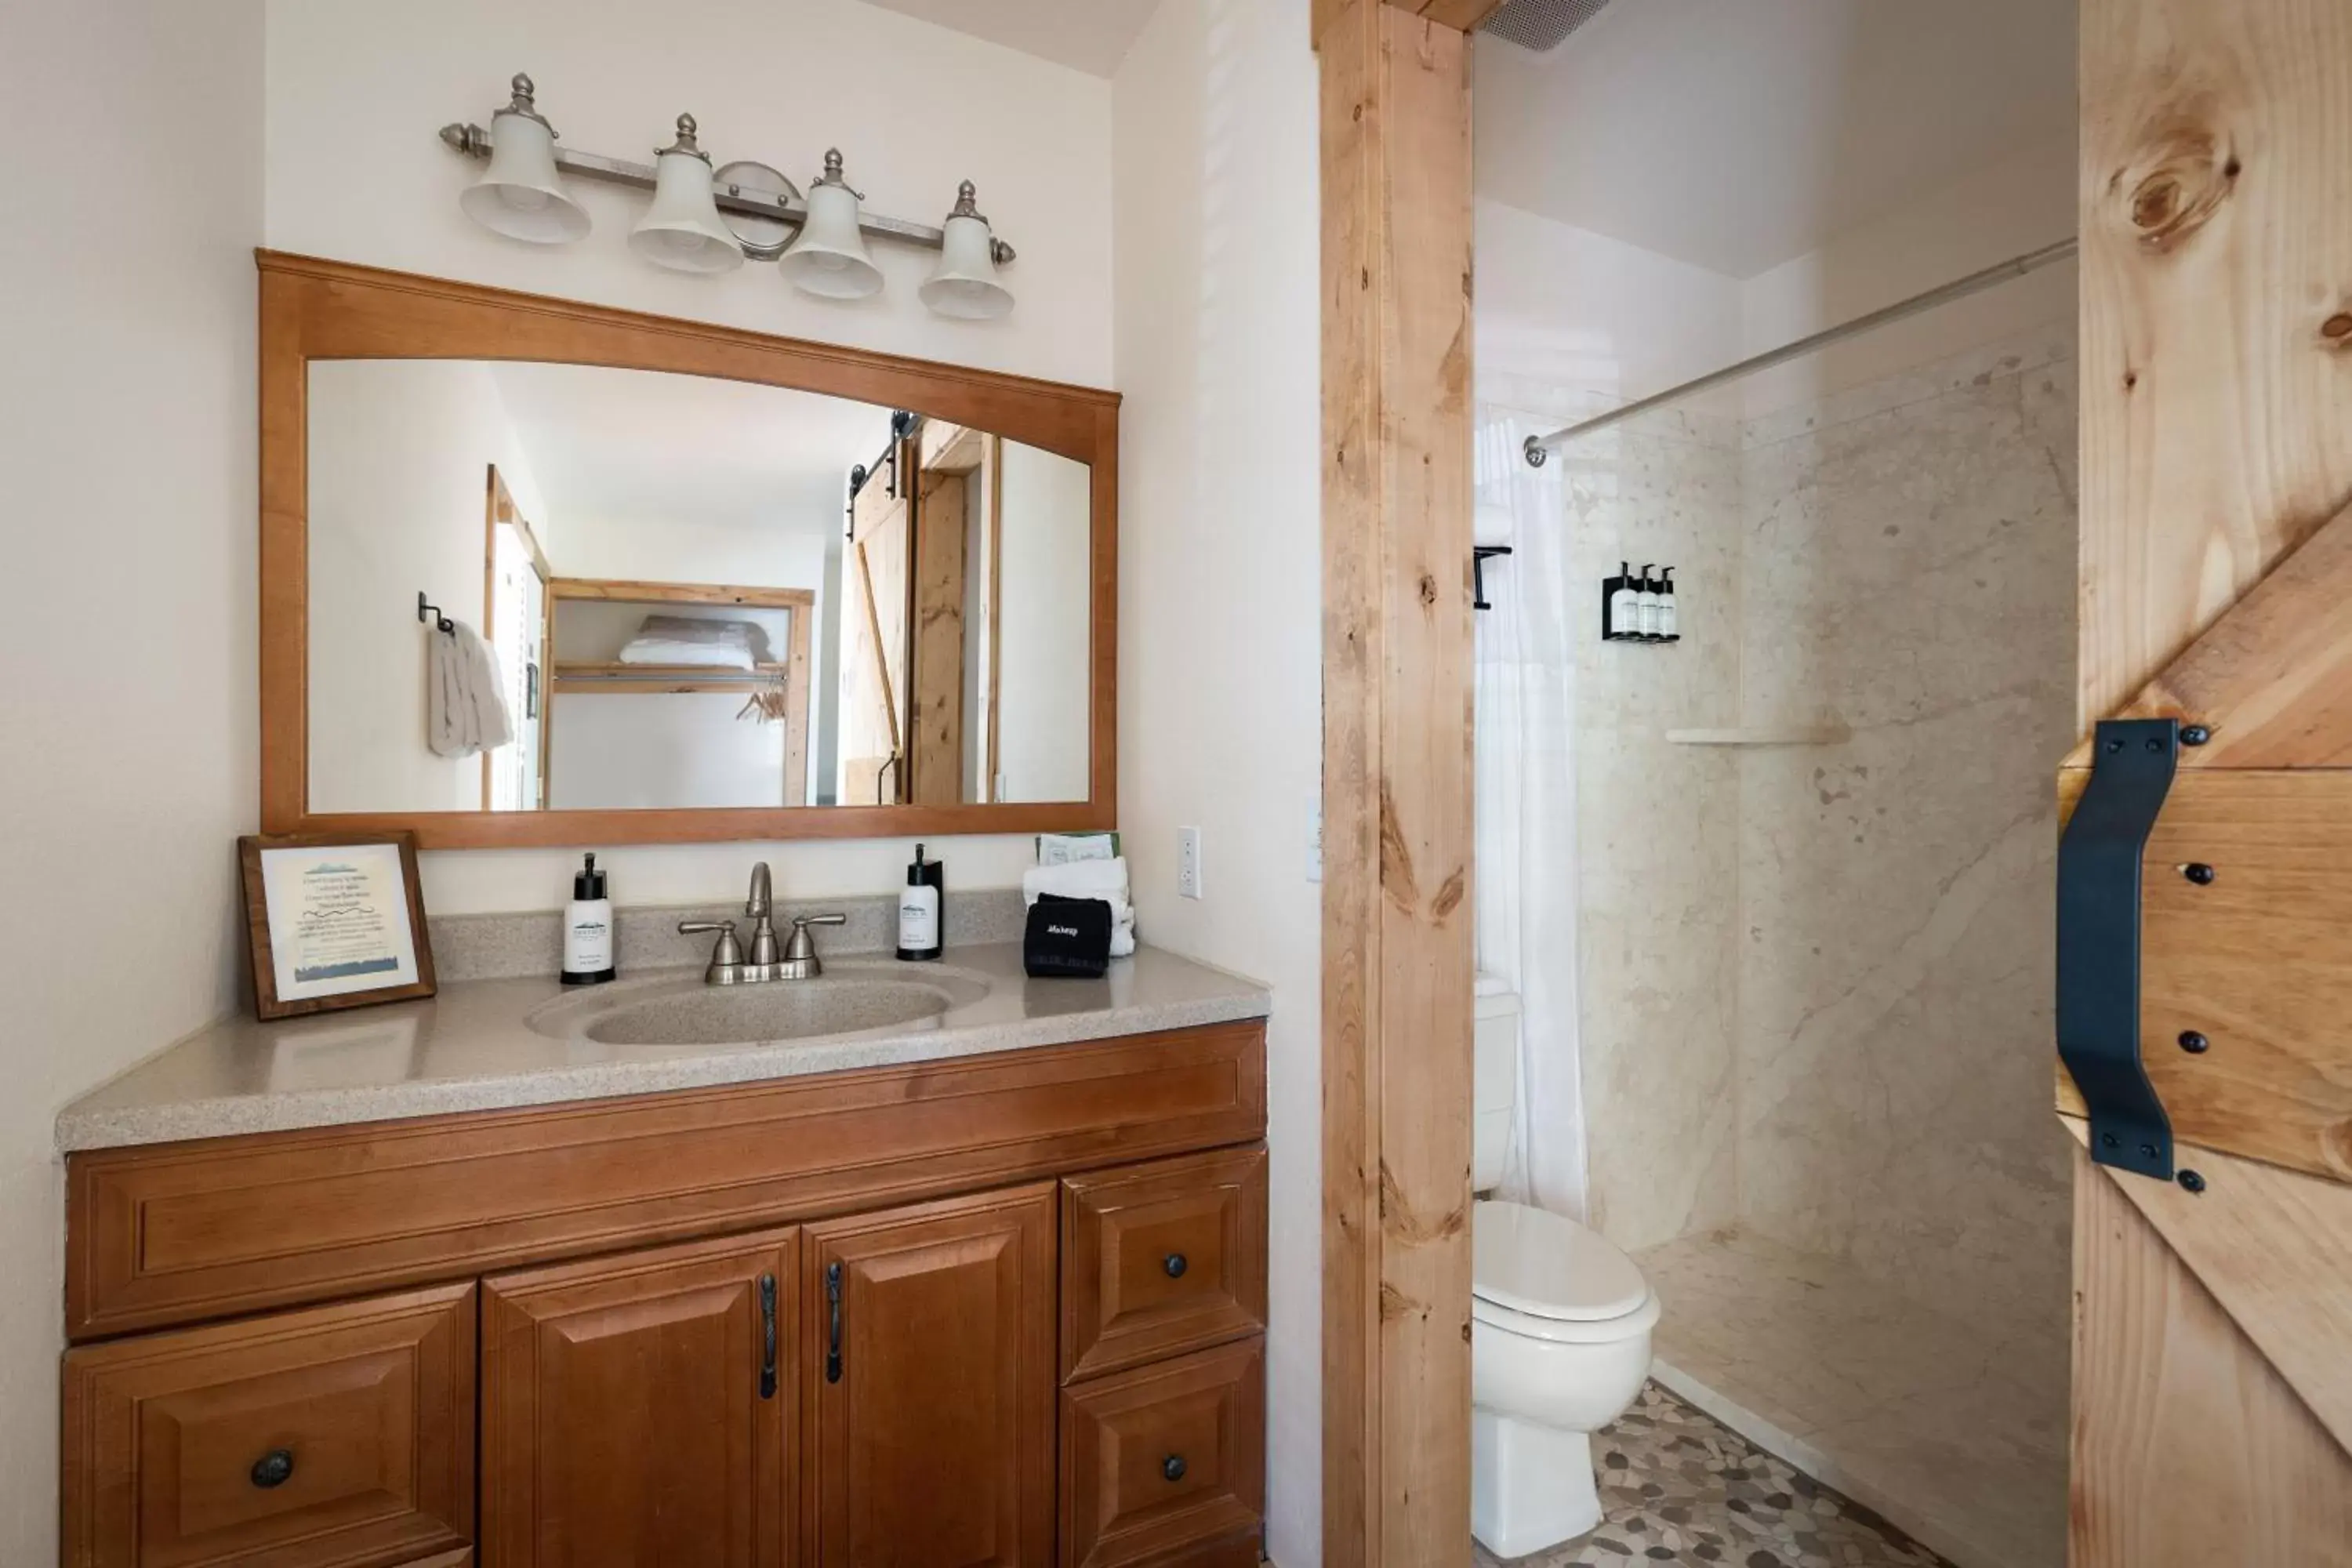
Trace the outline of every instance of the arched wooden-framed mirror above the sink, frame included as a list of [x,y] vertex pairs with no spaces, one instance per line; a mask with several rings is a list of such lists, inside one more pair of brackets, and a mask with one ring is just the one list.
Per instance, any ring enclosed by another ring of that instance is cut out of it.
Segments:
[[263,832],[1117,823],[1117,393],[259,266]]

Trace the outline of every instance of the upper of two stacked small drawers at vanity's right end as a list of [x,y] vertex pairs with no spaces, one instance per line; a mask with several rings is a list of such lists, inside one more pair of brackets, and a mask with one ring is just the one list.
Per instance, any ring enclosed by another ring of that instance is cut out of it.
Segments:
[[1061,1375],[1265,1328],[1265,1150],[1063,1182]]

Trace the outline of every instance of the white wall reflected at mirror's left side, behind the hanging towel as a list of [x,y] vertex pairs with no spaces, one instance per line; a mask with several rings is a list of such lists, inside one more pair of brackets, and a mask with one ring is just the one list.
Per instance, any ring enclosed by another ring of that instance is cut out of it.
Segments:
[[522,515],[541,524],[546,508],[487,364],[310,367],[313,809],[482,809],[482,759],[435,757],[426,745],[437,632],[416,618],[416,595],[482,630],[492,463]]

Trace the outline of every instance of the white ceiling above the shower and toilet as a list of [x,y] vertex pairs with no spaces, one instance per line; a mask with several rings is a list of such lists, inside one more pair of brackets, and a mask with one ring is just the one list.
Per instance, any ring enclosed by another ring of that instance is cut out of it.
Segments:
[[1613,0],[1477,40],[1477,188],[1755,277],[2074,125],[2063,0]]

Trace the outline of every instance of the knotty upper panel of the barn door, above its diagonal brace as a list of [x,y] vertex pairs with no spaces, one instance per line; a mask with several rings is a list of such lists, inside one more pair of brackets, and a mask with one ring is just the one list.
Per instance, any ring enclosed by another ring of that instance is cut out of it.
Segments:
[[2082,712],[2352,503],[2352,7],[2082,0]]

